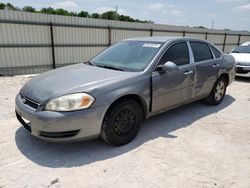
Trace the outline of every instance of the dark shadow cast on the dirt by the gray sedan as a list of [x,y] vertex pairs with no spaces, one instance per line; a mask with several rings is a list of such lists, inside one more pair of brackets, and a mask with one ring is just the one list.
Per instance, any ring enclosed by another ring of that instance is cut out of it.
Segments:
[[22,127],[16,131],[15,140],[20,152],[41,166],[82,166],[119,156],[159,137],[175,139],[175,130],[188,127],[196,120],[217,113],[234,101],[232,96],[226,95],[218,106],[209,106],[203,101],[198,101],[154,116],[143,123],[139,134],[132,142],[121,147],[109,146],[101,139],[67,144],[48,143],[30,136]]

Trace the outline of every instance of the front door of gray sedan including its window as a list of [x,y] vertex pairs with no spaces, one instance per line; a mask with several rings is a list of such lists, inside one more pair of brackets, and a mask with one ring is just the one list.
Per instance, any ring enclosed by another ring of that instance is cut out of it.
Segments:
[[152,113],[180,106],[194,95],[195,66],[190,63],[187,42],[171,45],[160,59],[158,65],[171,61],[178,70],[152,72]]

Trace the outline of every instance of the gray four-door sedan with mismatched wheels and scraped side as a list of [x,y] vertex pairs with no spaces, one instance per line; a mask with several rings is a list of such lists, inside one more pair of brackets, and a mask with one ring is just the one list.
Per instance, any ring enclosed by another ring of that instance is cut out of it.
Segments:
[[44,140],[101,136],[118,146],[155,114],[200,99],[220,104],[234,77],[234,58],[207,41],[128,39],[28,81],[16,96],[16,116]]

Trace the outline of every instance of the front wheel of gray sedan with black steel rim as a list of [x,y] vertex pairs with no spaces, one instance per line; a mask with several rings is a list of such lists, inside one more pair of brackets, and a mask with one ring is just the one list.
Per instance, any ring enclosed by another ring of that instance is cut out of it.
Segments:
[[122,100],[106,113],[101,137],[105,142],[114,146],[127,144],[139,132],[142,120],[141,106],[134,100]]

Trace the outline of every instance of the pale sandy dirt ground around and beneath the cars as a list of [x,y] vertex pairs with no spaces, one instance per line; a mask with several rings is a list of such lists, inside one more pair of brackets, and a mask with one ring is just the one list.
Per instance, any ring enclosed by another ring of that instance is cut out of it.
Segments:
[[219,106],[195,102],[147,120],[130,144],[52,144],[14,115],[29,77],[0,77],[0,187],[250,187],[250,79]]

